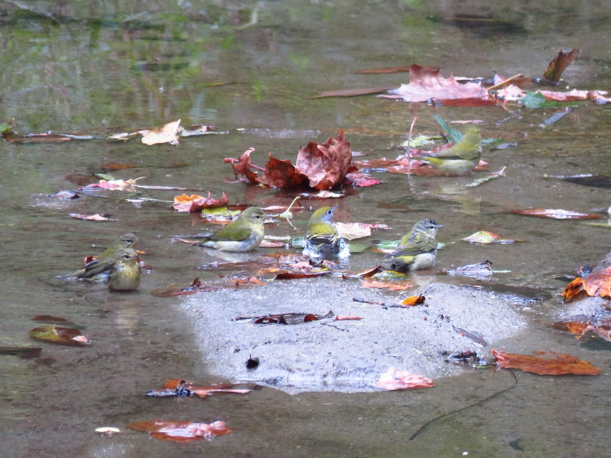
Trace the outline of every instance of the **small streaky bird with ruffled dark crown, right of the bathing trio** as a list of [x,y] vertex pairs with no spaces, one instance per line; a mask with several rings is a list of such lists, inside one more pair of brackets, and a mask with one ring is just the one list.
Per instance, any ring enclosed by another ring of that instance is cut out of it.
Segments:
[[397,249],[387,255],[390,269],[407,272],[433,267],[437,257],[435,236],[441,227],[429,218],[417,222],[411,232],[403,236]]

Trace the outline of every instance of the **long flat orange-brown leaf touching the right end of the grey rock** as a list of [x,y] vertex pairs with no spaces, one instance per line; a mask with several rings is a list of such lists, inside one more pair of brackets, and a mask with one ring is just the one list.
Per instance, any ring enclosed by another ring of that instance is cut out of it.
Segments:
[[520,369],[541,376],[560,376],[562,374],[579,374],[595,376],[601,369],[596,368],[587,361],[557,352],[535,352],[534,355],[519,355],[507,353],[504,350],[492,349],[492,356],[497,359],[497,365],[505,369]]

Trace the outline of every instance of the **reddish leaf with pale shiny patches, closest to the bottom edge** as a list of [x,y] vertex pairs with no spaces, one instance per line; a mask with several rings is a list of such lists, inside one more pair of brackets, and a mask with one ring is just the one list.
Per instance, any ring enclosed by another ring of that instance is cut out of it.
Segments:
[[152,437],[172,442],[191,442],[192,440],[211,439],[227,435],[233,431],[224,421],[213,423],[194,423],[191,421],[134,421],[126,425],[134,431],[149,432]]

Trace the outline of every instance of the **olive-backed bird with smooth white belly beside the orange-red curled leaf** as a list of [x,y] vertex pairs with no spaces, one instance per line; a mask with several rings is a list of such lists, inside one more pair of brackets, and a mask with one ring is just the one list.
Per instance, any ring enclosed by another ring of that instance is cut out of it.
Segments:
[[[201,236],[204,241],[197,245],[219,251],[243,253],[254,250],[265,236],[265,213],[259,207],[250,207],[225,227],[212,234]],[[197,236],[200,237],[200,236]]]

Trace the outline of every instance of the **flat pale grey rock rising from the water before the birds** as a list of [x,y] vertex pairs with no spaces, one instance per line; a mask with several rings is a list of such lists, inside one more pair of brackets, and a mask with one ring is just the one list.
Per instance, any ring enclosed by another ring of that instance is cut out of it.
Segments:
[[[211,373],[293,394],[372,391],[371,384],[390,366],[432,379],[457,374],[463,369],[448,362],[450,353],[488,354],[489,346],[526,327],[518,307],[493,293],[433,283],[409,291],[417,294],[426,297],[425,304],[390,307],[404,296],[361,288],[354,280],[314,278],[215,291],[184,304],[194,315]],[[385,305],[362,304],[354,297]],[[329,311],[334,317],[296,325],[235,321],[241,314]],[[337,315],[362,320],[334,321]],[[254,369],[246,367],[251,357],[259,362]]]

